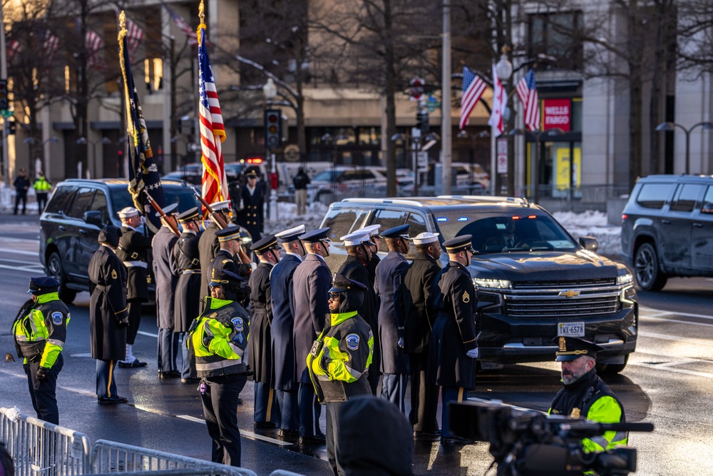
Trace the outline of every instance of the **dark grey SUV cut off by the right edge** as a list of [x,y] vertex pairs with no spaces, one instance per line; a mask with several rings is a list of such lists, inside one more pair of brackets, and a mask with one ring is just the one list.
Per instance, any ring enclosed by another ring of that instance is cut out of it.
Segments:
[[713,276],[713,177],[641,178],[622,213],[622,258],[642,290]]

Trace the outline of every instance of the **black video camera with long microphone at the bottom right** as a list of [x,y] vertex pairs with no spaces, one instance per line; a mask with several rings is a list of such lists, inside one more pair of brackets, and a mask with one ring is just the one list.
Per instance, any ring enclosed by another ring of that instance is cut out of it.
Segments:
[[605,431],[654,430],[651,423],[596,423],[548,417],[535,411],[515,414],[512,407],[495,402],[449,405],[451,432],[489,442],[498,476],[575,476],[585,471],[602,476],[628,475],[636,472],[634,448],[587,453],[581,440],[601,436]]

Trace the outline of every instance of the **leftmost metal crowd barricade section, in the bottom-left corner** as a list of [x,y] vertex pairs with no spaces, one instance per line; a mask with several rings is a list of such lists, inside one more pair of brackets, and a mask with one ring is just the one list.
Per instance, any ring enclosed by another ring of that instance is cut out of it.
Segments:
[[0,440],[5,442],[16,476],[73,476],[89,471],[87,435],[0,408]]

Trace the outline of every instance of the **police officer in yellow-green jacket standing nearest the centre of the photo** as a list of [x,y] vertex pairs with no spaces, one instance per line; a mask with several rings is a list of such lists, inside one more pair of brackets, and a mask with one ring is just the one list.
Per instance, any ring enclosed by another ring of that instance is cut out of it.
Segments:
[[359,315],[366,286],[335,274],[329,289],[329,323],[307,355],[307,370],[327,405],[327,460],[334,475],[346,475],[339,454],[339,409],[357,395],[371,395],[369,363],[374,336]]

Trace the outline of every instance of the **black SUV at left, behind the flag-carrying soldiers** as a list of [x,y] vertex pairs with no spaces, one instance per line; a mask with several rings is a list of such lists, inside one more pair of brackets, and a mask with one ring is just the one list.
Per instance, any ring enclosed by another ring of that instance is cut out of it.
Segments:
[[[117,212],[133,206],[128,183],[119,179],[69,179],[58,183],[40,217],[40,262],[61,283],[59,296],[71,303],[89,290],[89,257],[103,226],[121,226]],[[167,203],[181,211],[200,206],[193,191],[178,182],[163,183]],[[153,286],[150,286],[153,291]]]

